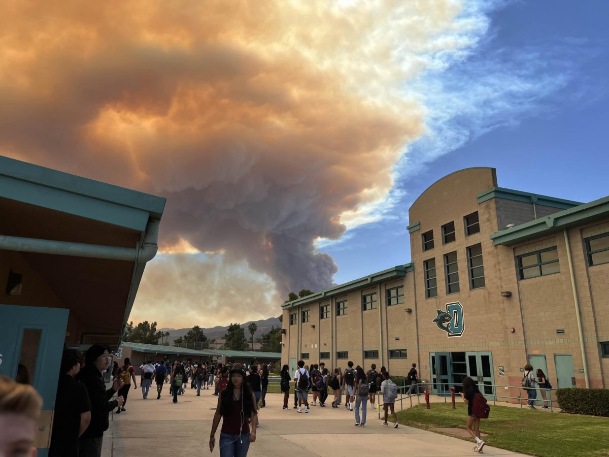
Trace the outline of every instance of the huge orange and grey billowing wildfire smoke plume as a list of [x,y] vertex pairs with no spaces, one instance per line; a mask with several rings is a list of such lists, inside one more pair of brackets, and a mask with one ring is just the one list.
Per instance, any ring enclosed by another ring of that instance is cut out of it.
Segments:
[[0,154],[166,196],[165,252],[222,252],[282,297],[323,289],[337,266],[315,239],[387,197],[424,132],[404,82],[486,26],[450,0],[9,1]]

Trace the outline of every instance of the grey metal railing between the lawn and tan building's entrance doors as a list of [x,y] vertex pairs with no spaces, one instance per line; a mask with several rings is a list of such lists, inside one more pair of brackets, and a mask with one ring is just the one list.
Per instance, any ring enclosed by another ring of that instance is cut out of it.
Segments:
[[[398,397],[395,399],[395,406],[398,405],[398,402],[400,404],[400,409],[398,411],[403,411],[404,410],[404,400],[407,401],[406,406],[407,408],[411,408],[413,406],[413,398],[415,398],[415,404],[420,405],[421,404],[421,395],[424,395],[425,391],[429,391],[429,396],[431,397],[432,395],[435,395],[436,397],[443,397],[444,398],[444,403],[449,403],[452,402],[452,395],[456,394],[459,395],[459,392],[462,390],[462,385],[461,384],[447,384],[447,383],[437,383],[437,386],[442,386],[442,388],[445,388],[444,391],[440,391],[440,392],[432,392],[431,391],[431,383],[418,383],[418,384],[411,384],[409,386],[401,386],[398,387]],[[414,386],[414,393],[413,394],[409,394],[408,392],[410,392],[410,390],[413,388]],[[447,388],[447,389],[446,389]],[[455,389],[455,392],[451,392],[451,388]],[[497,400],[498,399],[505,399],[504,402],[500,402],[500,403],[513,403],[510,402],[509,400],[518,400],[518,403],[520,404],[520,408],[524,408],[524,405],[526,405],[530,400],[533,401],[533,405],[537,404],[537,405],[542,405],[544,403],[548,403],[548,408],[552,413],[554,412],[554,409],[558,409],[560,410],[560,406],[558,405],[558,401],[557,399],[552,399],[552,393],[557,391],[557,389],[541,389],[541,388],[535,388],[534,390],[538,390],[538,391],[542,391],[542,392],[546,392],[546,399],[543,398],[536,398],[536,399],[530,399],[528,398],[527,395],[527,390],[529,390],[529,388],[524,388],[523,386],[504,386],[504,385],[500,385],[500,384],[478,384],[478,388],[481,389],[481,393],[482,395],[484,395],[487,400],[488,399],[492,399],[493,401],[493,405],[497,404]],[[490,388],[492,393],[485,393],[485,388]],[[517,389],[518,390],[518,396],[514,396],[514,395],[498,395],[498,391],[508,391],[511,392],[511,389]],[[524,396],[523,396],[524,394]],[[460,397],[460,395],[459,395]],[[555,395],[554,395],[555,397]],[[381,405],[383,404],[382,402],[382,394],[381,392],[377,392],[377,400],[378,402],[376,403],[377,405],[379,405],[379,408],[381,407]],[[410,405],[408,405],[408,402],[410,402]],[[425,404],[426,401],[423,401],[423,404]],[[434,403],[438,403],[438,402],[434,402]],[[381,417],[381,409],[379,409],[379,418]]]

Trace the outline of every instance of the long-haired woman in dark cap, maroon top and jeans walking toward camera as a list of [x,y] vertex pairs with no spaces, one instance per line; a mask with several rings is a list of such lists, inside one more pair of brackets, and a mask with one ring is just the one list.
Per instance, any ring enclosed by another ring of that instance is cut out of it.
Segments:
[[[222,418],[220,429],[220,457],[245,457],[250,443],[256,441],[258,409],[256,397],[245,382],[245,372],[241,369],[230,371],[230,383],[219,394],[216,414],[209,433],[209,451],[216,446],[216,430]],[[252,422],[252,430],[249,423]]]

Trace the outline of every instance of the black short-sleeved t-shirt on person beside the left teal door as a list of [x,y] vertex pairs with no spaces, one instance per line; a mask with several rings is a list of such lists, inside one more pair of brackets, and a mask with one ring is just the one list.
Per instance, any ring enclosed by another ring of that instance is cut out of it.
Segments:
[[80,414],[86,411],[91,411],[91,400],[85,384],[62,375],[55,398],[50,456],[78,457]]

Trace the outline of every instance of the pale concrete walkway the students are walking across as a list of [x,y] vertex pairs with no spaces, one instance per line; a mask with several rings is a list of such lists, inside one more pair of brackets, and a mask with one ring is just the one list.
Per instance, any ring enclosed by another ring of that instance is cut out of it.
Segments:
[[[127,411],[111,414],[110,430],[105,434],[104,457],[139,457],[150,455],[186,455],[197,448],[199,455],[209,454],[209,431],[216,410],[217,397],[211,390],[195,396],[188,389],[172,403],[167,386],[157,400],[150,389],[147,400],[138,389],[130,392]],[[291,397],[290,397],[291,400]],[[329,403],[328,403],[329,405]],[[267,394],[267,406],[259,414],[261,426],[250,456],[471,456],[474,442],[451,438],[431,431],[404,427],[382,427],[376,411],[368,409],[366,427],[354,427],[354,413],[313,406],[309,414],[296,409],[283,411],[283,395]],[[290,408],[293,403],[290,401]],[[465,420],[465,417],[463,417]],[[219,436],[211,455],[219,455]],[[486,456],[521,456],[507,450],[484,448]]]

